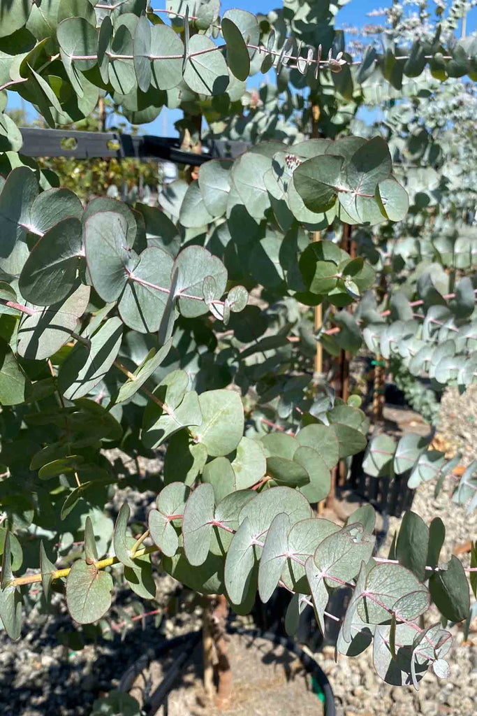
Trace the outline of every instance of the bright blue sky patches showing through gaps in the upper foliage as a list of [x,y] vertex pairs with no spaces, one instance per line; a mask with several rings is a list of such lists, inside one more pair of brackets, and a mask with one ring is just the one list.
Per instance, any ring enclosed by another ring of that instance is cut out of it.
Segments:
[[[191,4],[193,4],[193,0],[191,0]],[[342,9],[340,9],[337,19],[336,19],[336,26],[338,28],[340,27],[346,27],[346,26],[363,26],[366,23],[373,23],[373,24],[380,24],[380,22],[383,20],[383,18],[375,17],[375,18],[368,18],[367,13],[370,10],[373,10],[377,7],[387,7],[390,6],[391,0],[350,0],[347,5],[345,5]],[[434,6],[432,0],[430,3],[432,6]],[[165,7],[165,1],[164,0],[153,0],[152,6],[154,7]],[[274,0],[222,0],[221,2],[221,14],[225,12],[225,10],[233,8],[233,7],[240,7],[244,10],[249,10],[253,13],[262,13],[266,14],[267,12],[270,12],[270,10],[280,7],[281,3],[274,1]],[[411,8],[412,10],[413,8]],[[471,10],[468,14],[467,19],[467,32],[468,34],[473,32],[476,29],[477,26],[477,8],[474,8]],[[460,34],[460,28],[458,29],[458,35]],[[255,75],[255,77],[252,77],[250,80],[251,86],[257,86],[258,84],[261,84],[262,82],[266,82],[266,76],[258,73]],[[28,103],[21,100],[21,97],[16,92],[9,92],[9,102],[8,102],[8,109],[16,109],[23,106],[24,110],[26,110],[26,115],[29,120],[34,119],[36,116],[36,112],[31,105],[28,105]],[[180,110],[167,110],[167,108],[164,108],[157,117],[154,122],[150,122],[148,125],[142,125],[141,131],[142,133],[149,134],[149,135],[159,135],[159,136],[177,136],[177,132],[174,130],[174,122],[176,122],[180,117],[182,116],[182,112]],[[363,116],[363,119],[365,117],[373,117],[373,113],[369,113],[365,116]]]

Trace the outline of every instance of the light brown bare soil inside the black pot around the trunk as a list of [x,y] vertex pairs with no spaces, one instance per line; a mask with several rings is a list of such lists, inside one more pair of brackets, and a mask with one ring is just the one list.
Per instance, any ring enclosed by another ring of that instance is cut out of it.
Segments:
[[[229,655],[233,668],[232,700],[226,712],[207,700],[202,687],[202,649],[169,693],[160,716],[322,716],[323,702],[313,693],[310,676],[300,659],[266,639],[232,634]],[[167,672],[164,662],[152,662],[137,677],[131,696],[144,704],[144,696],[157,689]]]

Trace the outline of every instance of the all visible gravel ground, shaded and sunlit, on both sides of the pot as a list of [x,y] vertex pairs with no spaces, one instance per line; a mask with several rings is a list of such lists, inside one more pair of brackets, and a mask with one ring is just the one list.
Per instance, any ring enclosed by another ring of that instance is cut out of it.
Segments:
[[[450,450],[457,448],[463,452],[464,464],[477,458],[476,399],[477,386],[463,397],[448,390],[442,402],[439,432]],[[154,469],[152,465],[141,465],[141,468],[157,474],[160,463],[157,461]],[[434,485],[421,485],[413,501],[413,510],[427,523],[435,516],[443,518],[447,528],[443,558],[449,558],[456,546],[477,536],[477,513],[467,515],[465,508],[453,504],[449,498],[450,488],[449,479],[438,498],[434,498]],[[142,521],[153,498],[154,493],[139,496],[128,488],[116,496],[110,507],[114,513],[127,499],[135,518]],[[390,533],[381,555],[387,553],[387,544],[398,526],[399,520],[390,518]],[[468,555],[461,558],[468,565]],[[157,601],[169,609],[159,632],[172,637],[196,629],[200,609],[191,601],[190,593],[178,589],[174,580],[159,572],[157,584]],[[129,591],[117,594],[123,607],[127,607],[128,595]],[[144,606],[150,609],[149,603],[144,602]],[[89,716],[92,702],[117,687],[129,664],[152,653],[161,638],[149,618],[144,630],[137,621],[125,632],[114,632],[112,641],[89,643],[82,651],[74,652],[59,645],[56,639],[59,630],[72,629],[62,598],[54,599],[53,611],[54,614],[45,616],[33,609],[19,642],[12,643],[0,632],[1,716]],[[121,619],[119,611],[116,619]],[[437,614],[431,614],[431,621],[437,620]],[[477,627],[471,631],[468,642],[463,642],[463,632],[456,627],[453,636],[450,679],[438,683],[429,673],[421,682],[419,692],[383,684],[375,675],[369,649],[355,659],[340,657],[335,664],[333,647],[325,646],[316,658],[330,678],[338,716],[388,713],[391,716],[472,716],[476,712]]]

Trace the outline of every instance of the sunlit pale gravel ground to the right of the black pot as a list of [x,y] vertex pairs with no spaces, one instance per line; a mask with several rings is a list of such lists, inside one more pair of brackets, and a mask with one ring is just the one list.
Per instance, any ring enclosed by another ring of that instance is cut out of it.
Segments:
[[[446,390],[441,402],[441,420],[438,435],[442,448],[452,455],[462,453],[462,463],[468,465],[477,459],[477,385],[468,388],[459,396],[456,388]],[[446,525],[446,542],[441,559],[448,560],[454,548],[477,538],[477,511],[467,514],[466,508],[454,504],[450,498],[452,478],[448,478],[441,493],[434,497],[434,483],[426,483],[416,491],[412,509],[426,523],[434,517],[441,517]],[[400,520],[390,518],[388,538],[380,550],[387,556],[393,532],[397,531]],[[460,556],[468,566],[468,553]],[[473,601],[473,596],[471,597]],[[436,623],[439,614],[436,609],[429,612],[429,624]],[[463,631],[453,627],[453,647],[448,656],[451,667],[449,679],[438,679],[428,672],[420,684],[419,691],[412,687],[399,688],[384,684],[375,674],[372,652],[367,649],[354,659],[340,656],[334,660],[334,647],[325,646],[315,654],[320,666],[328,674],[335,692],[337,716],[473,716],[477,712],[477,620],[468,641],[463,641]]]

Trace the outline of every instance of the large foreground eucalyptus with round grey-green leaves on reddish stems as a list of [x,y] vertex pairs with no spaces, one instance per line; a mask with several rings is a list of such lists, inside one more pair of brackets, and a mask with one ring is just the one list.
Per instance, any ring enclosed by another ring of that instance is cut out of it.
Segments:
[[[400,89],[404,74],[429,63],[472,77],[475,46],[445,48],[437,35],[407,56],[394,44],[370,47],[355,64],[332,3],[287,4],[268,19],[237,9],[219,18],[214,0],[193,12],[180,3],[152,10],[145,0],[0,7],[0,89],[33,102],[53,127],[89,115],[104,95],[134,122],[163,106],[233,114],[259,68],[279,79],[286,70],[296,89],[308,87],[323,132],[337,122],[329,137],[293,135],[292,146],[280,137],[235,160],[211,160],[197,180],[167,185],[160,207],[108,197],[84,206],[22,157],[19,130],[1,115],[6,632],[20,637],[31,584],[41,582],[46,602],[64,593],[77,624],[101,623],[114,579],[154,599],[155,553],[169,574],[201,594],[225,594],[239,614],[257,590],[267,601],[287,589],[290,634],[308,605],[325,632],[327,619],[339,619],[326,611],[330,594],[351,589],[338,652],[355,655],[373,642],[376,671],[397,685],[417,687],[428,667],[446,676],[445,624],[467,619],[470,598],[461,562],[440,561],[442,521],[427,526],[406,513],[388,558],[378,558],[373,508],[340,527],[310,506],[330,492],[338,461],[365,450],[368,419],[359,398],[345,403],[314,384],[310,353],[321,336],[307,311],[338,309],[332,352],[364,339],[383,355],[404,353],[416,371],[431,366],[443,383],[473,381],[471,279],[448,295],[423,271],[418,299],[395,293],[380,311],[372,251],[351,258],[338,244],[343,223],[389,231],[409,200],[383,137],[338,137],[336,97],[348,100],[373,72]],[[334,236],[310,241],[328,227]],[[339,310],[346,306],[355,313]],[[121,475],[107,448],[133,458],[160,448],[162,474]],[[381,436],[365,463],[377,478],[412,470],[413,483],[442,479],[453,463],[426,448],[414,436],[397,446]],[[139,538],[127,504],[114,525],[104,512],[127,484],[157,493]],[[471,466],[456,499],[475,491]],[[57,569],[60,557],[69,566]],[[470,574],[475,593],[474,563]],[[442,623],[423,627],[431,600]]]

